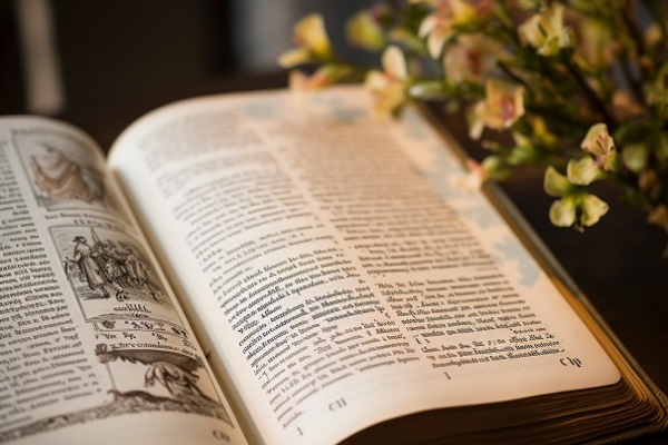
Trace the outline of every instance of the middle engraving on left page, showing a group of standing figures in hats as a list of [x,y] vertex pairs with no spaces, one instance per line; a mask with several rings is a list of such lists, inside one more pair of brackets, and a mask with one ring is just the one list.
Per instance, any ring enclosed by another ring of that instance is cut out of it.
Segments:
[[51,236],[81,313],[97,332],[187,335],[157,271],[130,237],[86,226],[53,227]]

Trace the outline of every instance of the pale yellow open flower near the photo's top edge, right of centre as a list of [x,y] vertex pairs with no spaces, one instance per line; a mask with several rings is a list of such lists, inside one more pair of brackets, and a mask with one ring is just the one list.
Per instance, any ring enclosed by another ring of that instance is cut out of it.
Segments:
[[571,36],[563,26],[563,7],[551,4],[520,24],[520,37],[541,56],[554,56],[571,44]]

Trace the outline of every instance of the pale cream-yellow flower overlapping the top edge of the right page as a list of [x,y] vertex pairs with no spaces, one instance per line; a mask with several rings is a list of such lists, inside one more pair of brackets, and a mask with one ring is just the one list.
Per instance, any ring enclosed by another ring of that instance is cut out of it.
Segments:
[[382,63],[384,71],[370,71],[365,85],[376,98],[377,113],[387,116],[405,103],[409,73],[405,57],[396,46],[385,49]]

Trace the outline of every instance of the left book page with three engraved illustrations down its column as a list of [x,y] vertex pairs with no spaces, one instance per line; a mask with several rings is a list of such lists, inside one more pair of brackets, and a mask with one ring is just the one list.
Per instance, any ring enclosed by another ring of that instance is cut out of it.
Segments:
[[245,443],[81,131],[0,120],[0,443]]

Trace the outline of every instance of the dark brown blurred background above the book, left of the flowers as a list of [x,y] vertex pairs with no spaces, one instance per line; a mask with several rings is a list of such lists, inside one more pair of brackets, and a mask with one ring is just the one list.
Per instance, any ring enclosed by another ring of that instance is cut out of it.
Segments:
[[292,27],[306,13],[325,14],[337,48],[360,57],[342,44],[342,23],[371,2],[0,0],[0,112],[45,112],[30,107],[21,3],[43,3],[52,19],[63,102],[47,113],[82,126],[108,147],[131,120],[166,102],[285,86],[276,57],[292,47]]

